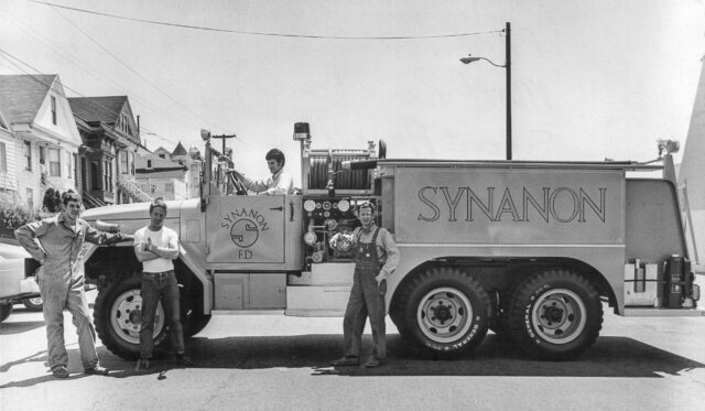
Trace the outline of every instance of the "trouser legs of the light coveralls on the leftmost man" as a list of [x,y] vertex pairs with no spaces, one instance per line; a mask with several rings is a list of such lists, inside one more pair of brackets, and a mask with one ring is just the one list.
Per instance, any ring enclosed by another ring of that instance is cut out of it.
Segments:
[[66,367],[68,355],[64,345],[64,309],[74,317],[80,363],[84,369],[98,365],[96,353],[96,329],[90,321],[88,302],[84,292],[84,277],[69,278],[68,283],[57,281],[47,275],[40,275],[40,292],[42,295],[42,311],[46,323],[46,345],[48,348],[48,366],[52,370]]

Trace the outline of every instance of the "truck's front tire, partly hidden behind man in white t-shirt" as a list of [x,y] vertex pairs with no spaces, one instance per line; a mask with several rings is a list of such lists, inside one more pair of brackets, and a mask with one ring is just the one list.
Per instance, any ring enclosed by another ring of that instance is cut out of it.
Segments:
[[[94,306],[98,337],[106,348],[123,359],[137,359],[140,356],[141,285],[139,277],[112,283],[98,293]],[[154,346],[162,344],[169,334],[164,320],[164,309],[160,302],[154,316]]]

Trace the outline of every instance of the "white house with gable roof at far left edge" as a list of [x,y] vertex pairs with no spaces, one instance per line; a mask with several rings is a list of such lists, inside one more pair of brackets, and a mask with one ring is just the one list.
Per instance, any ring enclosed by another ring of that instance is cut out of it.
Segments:
[[0,112],[3,197],[37,209],[50,187],[80,192],[82,140],[58,75],[0,75]]

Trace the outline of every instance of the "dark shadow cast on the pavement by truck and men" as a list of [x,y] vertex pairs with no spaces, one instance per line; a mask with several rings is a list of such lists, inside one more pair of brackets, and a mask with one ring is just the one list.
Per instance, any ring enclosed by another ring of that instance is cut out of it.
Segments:
[[[364,337],[366,353],[369,355],[371,337]],[[663,378],[664,375],[677,376],[705,365],[640,343],[628,337],[599,337],[595,345],[573,361],[541,361],[529,358],[518,347],[505,343],[495,335],[488,335],[482,344],[469,355],[459,358],[443,358],[425,355],[405,344],[398,334],[388,336],[388,360],[378,368],[333,367],[330,361],[341,355],[340,335],[295,335],[262,337],[193,337],[186,340],[188,355],[196,363],[188,368],[310,368],[317,376],[468,376],[468,377],[631,377]],[[7,371],[13,365],[23,361],[44,361],[46,354],[0,365],[0,371]],[[73,379],[86,376],[80,369],[80,358],[76,348],[69,349],[69,372]],[[108,377],[128,378],[132,376],[154,375],[156,380],[167,378],[172,369],[185,368],[177,365],[165,351],[155,353],[152,367],[135,371],[135,361],[128,361],[108,351],[98,349],[100,363],[110,369]],[[78,367],[78,368],[76,368]],[[22,381],[12,381],[0,386],[29,387],[53,380],[51,374]]]

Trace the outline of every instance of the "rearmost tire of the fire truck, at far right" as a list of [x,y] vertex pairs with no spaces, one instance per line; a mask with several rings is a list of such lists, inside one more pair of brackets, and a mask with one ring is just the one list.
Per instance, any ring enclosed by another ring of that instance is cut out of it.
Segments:
[[512,293],[509,326],[514,342],[530,355],[568,360],[587,350],[603,326],[596,289],[567,270],[541,271]]

